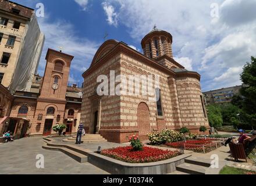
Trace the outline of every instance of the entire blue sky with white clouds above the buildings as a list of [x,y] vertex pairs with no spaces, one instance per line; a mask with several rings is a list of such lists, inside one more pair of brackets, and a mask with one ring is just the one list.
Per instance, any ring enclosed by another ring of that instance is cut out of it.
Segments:
[[14,0],[38,10],[45,34],[38,73],[43,76],[48,48],[74,56],[69,84],[83,83],[107,39],[142,52],[140,42],[154,25],[173,36],[173,56],[201,74],[202,91],[240,85],[240,74],[256,56],[256,0]]

